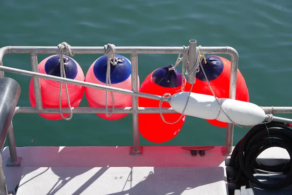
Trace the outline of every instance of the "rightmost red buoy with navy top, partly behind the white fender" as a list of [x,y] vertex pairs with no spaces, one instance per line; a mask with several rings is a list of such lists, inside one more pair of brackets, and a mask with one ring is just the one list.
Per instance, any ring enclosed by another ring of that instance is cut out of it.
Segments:
[[[207,63],[204,62],[204,59],[201,60],[201,64],[204,68],[205,74],[209,80],[215,96],[217,98],[229,98],[231,61],[219,56],[207,56],[206,62]],[[186,83],[184,91],[190,91],[190,88],[191,84]],[[193,86],[192,92],[213,96],[206,78],[201,70],[201,67],[200,71],[196,74],[196,83]],[[237,70],[236,99],[249,102],[248,89],[245,80],[239,70]],[[206,120],[212,125],[218,127],[227,127],[226,122],[221,122],[216,119]]]

